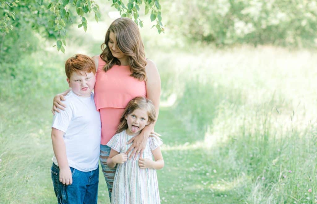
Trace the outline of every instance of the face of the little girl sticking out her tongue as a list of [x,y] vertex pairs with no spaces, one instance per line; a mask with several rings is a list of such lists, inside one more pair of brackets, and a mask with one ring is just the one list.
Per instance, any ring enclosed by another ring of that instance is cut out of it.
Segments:
[[145,109],[135,109],[131,114],[125,116],[128,123],[126,133],[128,135],[139,135],[141,130],[148,125],[148,115]]

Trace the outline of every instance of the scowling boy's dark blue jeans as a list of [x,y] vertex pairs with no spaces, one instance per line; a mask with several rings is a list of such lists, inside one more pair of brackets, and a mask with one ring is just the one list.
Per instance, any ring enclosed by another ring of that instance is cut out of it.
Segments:
[[70,167],[73,183],[66,186],[59,181],[59,167],[54,163],[51,176],[57,203],[97,203],[99,167],[96,170],[83,172]]

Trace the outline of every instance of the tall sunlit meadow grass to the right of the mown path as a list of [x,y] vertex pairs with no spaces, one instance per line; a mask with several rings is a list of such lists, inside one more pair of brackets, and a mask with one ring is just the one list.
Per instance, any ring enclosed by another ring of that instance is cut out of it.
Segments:
[[199,49],[159,64],[168,72],[174,67],[163,92],[177,87],[174,114],[192,148],[214,158],[210,168],[224,174],[220,183],[231,182],[239,202],[317,202],[317,55],[274,47]]

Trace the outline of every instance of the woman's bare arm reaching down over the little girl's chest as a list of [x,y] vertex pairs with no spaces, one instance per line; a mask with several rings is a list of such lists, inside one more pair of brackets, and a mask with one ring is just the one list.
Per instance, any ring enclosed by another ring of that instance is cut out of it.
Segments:
[[147,139],[150,136],[150,133],[154,130],[155,123],[157,121],[157,118],[159,116],[159,100],[161,95],[161,79],[159,76],[159,71],[157,67],[155,66],[154,62],[152,60],[146,60],[146,97],[150,99],[154,106],[155,106],[155,112],[156,112],[156,118],[155,122],[152,124],[149,124],[143,128],[141,133],[135,137],[132,137],[127,144],[132,143],[130,148],[126,151],[126,154],[129,154],[129,152],[133,149],[133,152],[131,153],[129,159],[131,159],[132,156],[136,158],[136,152],[140,153],[140,157],[142,157],[143,150],[146,147]]

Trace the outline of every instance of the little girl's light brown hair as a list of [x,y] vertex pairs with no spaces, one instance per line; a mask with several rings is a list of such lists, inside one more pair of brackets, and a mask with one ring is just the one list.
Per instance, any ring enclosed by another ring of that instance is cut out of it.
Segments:
[[126,116],[131,114],[136,109],[146,109],[148,122],[154,123],[156,118],[155,106],[153,105],[150,99],[146,99],[145,97],[138,96],[132,99],[126,106],[126,109],[124,110],[120,118],[120,124],[117,128],[116,134],[128,128]]

